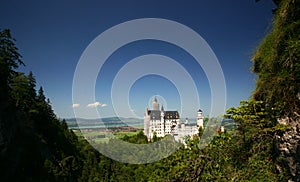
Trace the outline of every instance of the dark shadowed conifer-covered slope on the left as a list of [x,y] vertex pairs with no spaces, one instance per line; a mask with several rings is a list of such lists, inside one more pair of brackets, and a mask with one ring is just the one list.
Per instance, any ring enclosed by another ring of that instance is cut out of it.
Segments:
[[[0,181],[78,181],[99,154],[56,118],[43,88],[36,91],[10,31],[0,31]],[[83,181],[85,178],[82,177]]]

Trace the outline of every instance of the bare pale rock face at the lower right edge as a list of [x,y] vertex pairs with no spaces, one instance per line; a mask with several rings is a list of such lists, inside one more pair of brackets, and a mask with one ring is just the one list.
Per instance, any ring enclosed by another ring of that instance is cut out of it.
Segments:
[[290,126],[283,135],[276,136],[280,156],[292,176],[291,181],[300,181],[300,117],[286,117],[278,122]]

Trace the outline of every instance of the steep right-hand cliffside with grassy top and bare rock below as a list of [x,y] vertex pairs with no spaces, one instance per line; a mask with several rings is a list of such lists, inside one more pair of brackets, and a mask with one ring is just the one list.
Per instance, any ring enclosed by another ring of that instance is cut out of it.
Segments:
[[[279,2],[279,1],[278,1]],[[300,1],[280,1],[272,31],[253,55],[258,75],[255,100],[265,103],[273,124],[288,128],[276,133],[276,150],[294,180],[300,179]],[[280,167],[278,167],[281,171]]]

